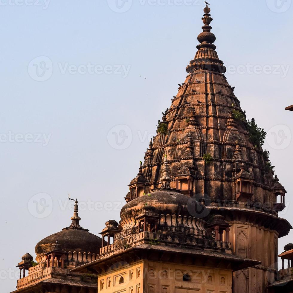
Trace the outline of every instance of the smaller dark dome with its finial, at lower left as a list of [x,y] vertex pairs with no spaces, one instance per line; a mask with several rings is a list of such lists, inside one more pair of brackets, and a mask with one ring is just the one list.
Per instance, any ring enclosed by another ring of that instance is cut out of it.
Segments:
[[42,239],[35,247],[36,254],[40,255],[51,251],[56,241],[58,241],[58,245],[64,251],[81,251],[98,254],[102,247],[102,239],[99,236],[89,233],[87,229],[80,227],[77,200],[75,201],[74,214],[71,220],[72,222],[69,227]]

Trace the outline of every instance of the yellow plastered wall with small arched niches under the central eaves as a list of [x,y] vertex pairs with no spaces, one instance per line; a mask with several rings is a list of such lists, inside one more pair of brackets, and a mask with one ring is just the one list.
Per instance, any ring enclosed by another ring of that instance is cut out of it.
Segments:
[[98,292],[232,293],[232,271],[205,266],[142,261],[100,275]]

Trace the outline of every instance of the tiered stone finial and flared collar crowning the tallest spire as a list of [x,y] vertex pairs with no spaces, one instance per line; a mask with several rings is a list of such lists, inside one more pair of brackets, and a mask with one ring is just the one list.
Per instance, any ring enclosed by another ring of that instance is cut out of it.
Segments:
[[210,32],[212,28],[210,23],[213,19],[210,17],[210,8],[207,5],[204,8],[204,13],[204,17],[202,18],[204,23],[202,26],[203,32],[200,33],[197,37],[198,41],[200,42],[200,44],[196,47],[198,51],[194,59],[190,61],[190,64],[187,66],[186,70],[188,73],[198,69],[206,69],[225,73],[226,67],[223,65],[223,62],[219,59],[218,54],[215,51],[216,46],[213,45],[216,37],[213,33]]

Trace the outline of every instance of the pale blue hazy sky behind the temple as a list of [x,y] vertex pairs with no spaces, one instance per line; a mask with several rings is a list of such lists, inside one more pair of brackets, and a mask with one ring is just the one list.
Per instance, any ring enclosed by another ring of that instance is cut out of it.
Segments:
[[[292,0],[209,0],[225,76],[268,132],[293,223]],[[1,292],[23,254],[68,227],[119,220],[201,32],[199,0],[0,0]],[[293,234],[279,239],[279,253]]]

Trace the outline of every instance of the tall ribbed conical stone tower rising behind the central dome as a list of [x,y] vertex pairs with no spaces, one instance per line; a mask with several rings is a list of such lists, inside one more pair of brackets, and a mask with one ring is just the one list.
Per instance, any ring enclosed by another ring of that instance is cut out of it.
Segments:
[[125,199],[161,188],[167,155],[171,188],[204,203],[210,216],[224,216],[231,225],[232,253],[261,261],[234,273],[234,292],[266,292],[267,276],[277,269],[277,240],[292,228],[278,217],[286,190],[274,178],[267,152],[255,137],[254,119],[247,123],[224,76],[226,68],[210,32],[210,8],[204,12],[198,51]]

